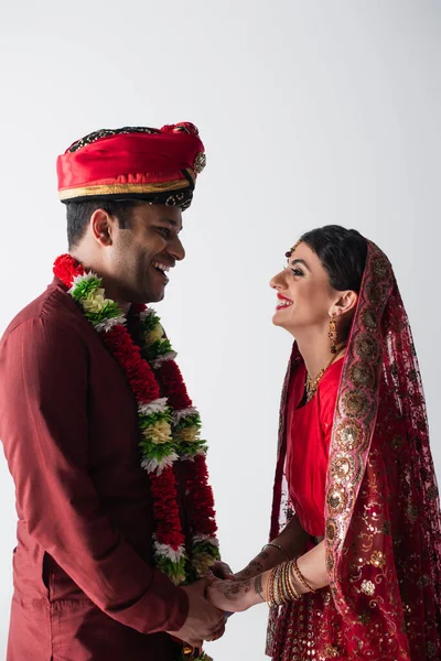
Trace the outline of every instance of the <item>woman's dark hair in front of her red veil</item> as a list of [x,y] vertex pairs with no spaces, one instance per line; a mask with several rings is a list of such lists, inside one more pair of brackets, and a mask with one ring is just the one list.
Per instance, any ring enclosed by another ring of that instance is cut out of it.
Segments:
[[326,225],[306,231],[301,239],[318,254],[337,291],[359,292],[366,264],[367,241],[356,229]]

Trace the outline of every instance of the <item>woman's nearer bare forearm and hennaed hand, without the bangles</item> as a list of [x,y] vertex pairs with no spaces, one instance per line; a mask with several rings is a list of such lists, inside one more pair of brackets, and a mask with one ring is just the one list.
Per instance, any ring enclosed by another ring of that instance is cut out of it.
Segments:
[[[325,587],[329,582],[324,541],[299,557],[298,567],[305,583],[313,590]],[[251,606],[267,600],[270,575],[271,570],[245,581],[214,581],[207,588],[208,600],[220,610],[228,613],[247,610]],[[291,572],[291,581],[299,595],[309,592],[293,571]]]

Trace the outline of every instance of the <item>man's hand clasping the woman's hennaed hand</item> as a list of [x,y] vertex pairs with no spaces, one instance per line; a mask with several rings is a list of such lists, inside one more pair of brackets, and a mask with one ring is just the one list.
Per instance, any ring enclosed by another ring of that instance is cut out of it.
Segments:
[[220,638],[224,632],[225,614],[205,598],[208,585],[209,579],[202,578],[181,588],[189,595],[189,615],[179,631],[168,631],[194,648],[202,648],[204,640]]

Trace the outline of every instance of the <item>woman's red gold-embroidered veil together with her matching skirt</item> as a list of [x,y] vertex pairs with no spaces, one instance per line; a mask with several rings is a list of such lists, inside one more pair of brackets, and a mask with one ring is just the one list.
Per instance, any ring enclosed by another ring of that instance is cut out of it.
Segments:
[[[280,414],[271,538],[283,516]],[[290,517],[290,507],[284,511]],[[338,387],[325,491],[330,587],[270,614],[276,661],[441,660],[441,518],[426,403],[391,266],[368,242]]]

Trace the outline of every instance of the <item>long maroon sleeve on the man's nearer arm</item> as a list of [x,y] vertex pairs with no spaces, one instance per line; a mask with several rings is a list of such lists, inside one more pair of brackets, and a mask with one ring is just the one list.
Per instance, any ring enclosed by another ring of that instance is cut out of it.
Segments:
[[100,507],[87,465],[87,347],[32,318],[0,345],[0,433],[29,533],[107,615],[142,633],[178,630],[187,596],[146,564]]

